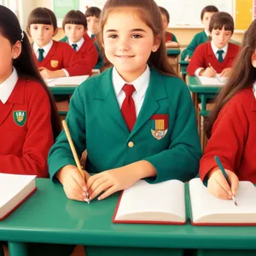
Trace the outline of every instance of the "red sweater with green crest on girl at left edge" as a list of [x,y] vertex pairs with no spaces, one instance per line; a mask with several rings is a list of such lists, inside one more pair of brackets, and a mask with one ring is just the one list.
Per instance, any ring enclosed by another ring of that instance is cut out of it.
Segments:
[[[47,155],[54,139],[44,88],[19,79],[8,101],[0,101],[0,113],[0,172],[48,177]],[[25,113],[20,121],[19,113]]]

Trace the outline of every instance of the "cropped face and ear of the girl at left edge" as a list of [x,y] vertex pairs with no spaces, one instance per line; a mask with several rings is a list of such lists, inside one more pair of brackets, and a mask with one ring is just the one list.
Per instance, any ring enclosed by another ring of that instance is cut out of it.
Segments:
[[2,84],[12,73],[13,60],[18,58],[21,52],[21,44],[18,41],[11,45],[7,38],[0,34],[0,84]]

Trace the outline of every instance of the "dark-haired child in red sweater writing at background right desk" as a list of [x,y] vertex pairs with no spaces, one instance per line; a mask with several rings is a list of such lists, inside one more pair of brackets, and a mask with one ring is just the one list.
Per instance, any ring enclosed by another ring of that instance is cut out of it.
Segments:
[[[228,13],[212,15],[209,25],[212,41],[200,44],[191,57],[187,72],[190,76],[229,77],[239,46],[229,43],[234,32],[234,20]],[[210,65],[212,67],[210,67]]]

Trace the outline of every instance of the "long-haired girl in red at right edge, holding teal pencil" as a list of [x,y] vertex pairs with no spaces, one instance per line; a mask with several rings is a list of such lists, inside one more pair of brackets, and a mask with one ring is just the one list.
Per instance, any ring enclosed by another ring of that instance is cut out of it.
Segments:
[[[256,183],[256,20],[249,26],[243,44],[208,120],[210,139],[200,163],[201,180],[208,182],[212,195],[224,199],[236,195],[239,180]],[[231,188],[215,155],[230,177]]]

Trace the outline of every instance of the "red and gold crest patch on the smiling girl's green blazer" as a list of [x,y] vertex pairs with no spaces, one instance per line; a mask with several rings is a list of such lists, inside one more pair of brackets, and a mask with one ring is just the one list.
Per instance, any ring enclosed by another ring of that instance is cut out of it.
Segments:
[[154,114],[151,117],[151,133],[157,140],[166,136],[169,127],[168,114]]

